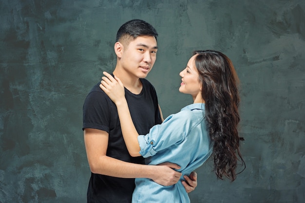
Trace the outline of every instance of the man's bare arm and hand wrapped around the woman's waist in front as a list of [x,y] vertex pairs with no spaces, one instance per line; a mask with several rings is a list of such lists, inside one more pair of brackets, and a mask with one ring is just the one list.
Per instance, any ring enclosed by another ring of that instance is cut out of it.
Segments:
[[90,170],[93,173],[119,178],[149,178],[154,182],[169,186],[176,184],[181,173],[176,164],[163,166],[140,165],[123,162],[106,156],[108,133],[99,129],[84,129],[84,140]]

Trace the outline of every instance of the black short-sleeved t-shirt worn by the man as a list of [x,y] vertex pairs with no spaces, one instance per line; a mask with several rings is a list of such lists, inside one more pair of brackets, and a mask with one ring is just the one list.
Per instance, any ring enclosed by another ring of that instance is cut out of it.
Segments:
[[[158,99],[152,84],[140,79],[143,89],[133,94],[125,88],[125,97],[131,112],[133,124],[139,134],[161,123]],[[115,104],[96,84],[87,95],[83,106],[83,129],[92,128],[107,131],[109,141],[107,156],[125,162],[144,164],[143,157],[132,157],[126,148]],[[134,179],[115,178],[91,173],[88,186],[88,203],[131,203]]]

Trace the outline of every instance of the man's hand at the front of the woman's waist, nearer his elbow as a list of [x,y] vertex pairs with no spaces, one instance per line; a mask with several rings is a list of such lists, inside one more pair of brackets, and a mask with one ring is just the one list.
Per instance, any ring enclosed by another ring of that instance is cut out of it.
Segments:
[[162,163],[156,166],[156,173],[152,180],[163,186],[170,186],[176,184],[182,175],[182,173],[175,171],[174,169],[179,169],[180,166],[172,163]]

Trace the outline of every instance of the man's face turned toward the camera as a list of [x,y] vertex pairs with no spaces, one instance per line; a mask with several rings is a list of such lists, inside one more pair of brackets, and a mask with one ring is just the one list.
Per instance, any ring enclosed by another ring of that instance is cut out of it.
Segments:
[[127,46],[124,46],[121,65],[127,73],[137,78],[145,78],[152,70],[157,50],[155,37],[136,37]]

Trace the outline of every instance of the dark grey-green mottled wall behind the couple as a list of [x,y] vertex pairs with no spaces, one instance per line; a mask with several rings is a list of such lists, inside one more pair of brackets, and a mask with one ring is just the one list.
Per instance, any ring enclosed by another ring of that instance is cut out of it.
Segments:
[[133,18],[159,32],[164,116],[191,103],[177,90],[193,50],[224,52],[241,80],[247,169],[230,183],[205,164],[192,203],[304,203],[304,0],[0,0],[0,203],[85,202],[82,104]]

